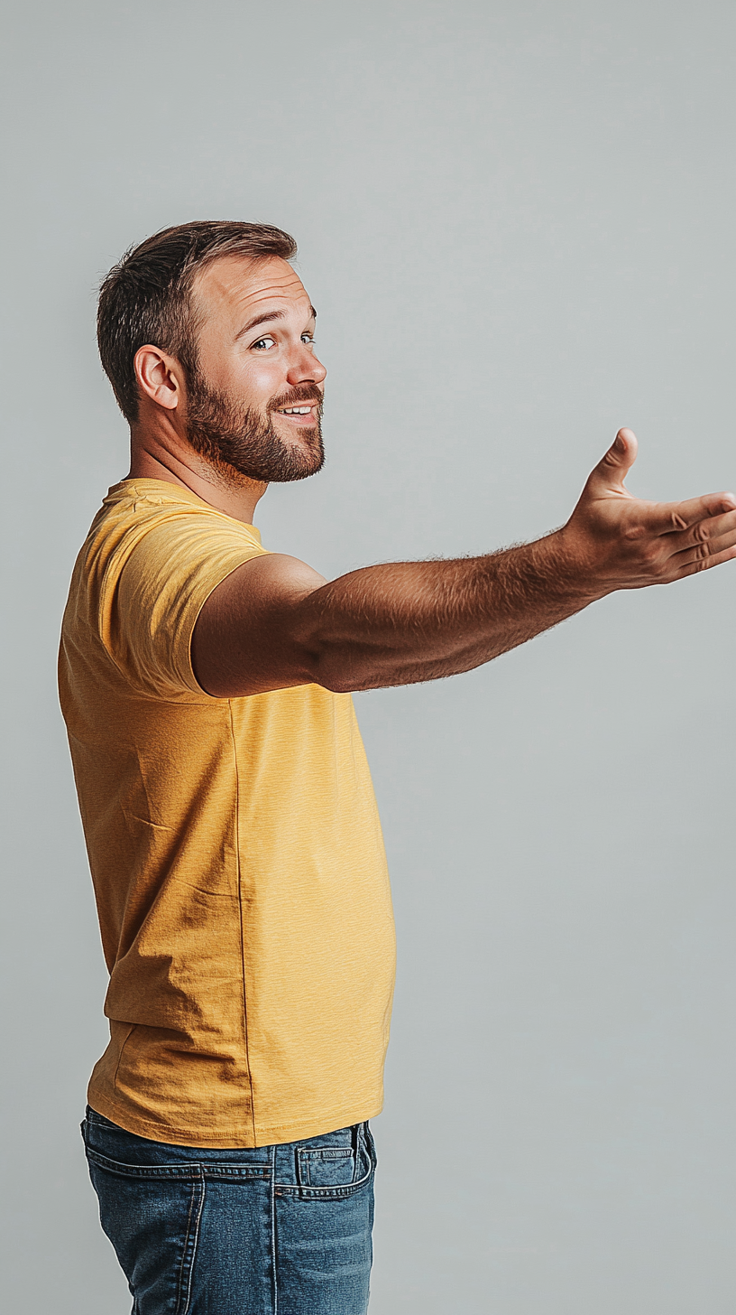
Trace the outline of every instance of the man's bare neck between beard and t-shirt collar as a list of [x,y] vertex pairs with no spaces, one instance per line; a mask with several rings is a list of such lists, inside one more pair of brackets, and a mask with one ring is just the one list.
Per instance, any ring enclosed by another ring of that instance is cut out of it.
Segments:
[[191,489],[204,502],[246,525],[252,525],[256,504],[268,488],[244,475],[229,481],[188,444],[184,448],[180,443],[162,443],[158,435],[138,426],[130,430],[130,471],[125,477],[163,480]]

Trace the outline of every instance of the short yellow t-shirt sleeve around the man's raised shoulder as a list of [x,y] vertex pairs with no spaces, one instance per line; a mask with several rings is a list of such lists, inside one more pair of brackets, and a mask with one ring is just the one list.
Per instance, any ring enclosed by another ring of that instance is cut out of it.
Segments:
[[100,635],[142,693],[210,697],[192,669],[192,633],[213,589],[265,554],[251,535],[226,517],[170,512],[139,525],[133,546],[118,546],[105,571]]

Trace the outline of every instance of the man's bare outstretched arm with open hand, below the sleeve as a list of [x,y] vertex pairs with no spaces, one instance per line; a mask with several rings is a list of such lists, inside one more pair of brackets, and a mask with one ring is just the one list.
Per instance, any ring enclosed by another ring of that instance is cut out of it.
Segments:
[[669,584],[736,556],[732,493],[641,501],[623,483],[635,458],[635,435],[619,430],[561,530],[489,556],[389,563],[329,584],[294,558],[244,563],[202,608],[197,680],[217,697],[435,680],[616,589]]

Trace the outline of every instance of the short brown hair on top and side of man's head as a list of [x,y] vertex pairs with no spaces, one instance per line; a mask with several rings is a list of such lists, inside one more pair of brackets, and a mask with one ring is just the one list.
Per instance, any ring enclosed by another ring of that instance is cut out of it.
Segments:
[[138,419],[133,360],[147,342],[176,356],[187,380],[197,370],[195,275],[222,255],[290,260],[297,245],[269,224],[197,220],[162,229],[125,252],[100,288],[97,345],[103,368],[125,418]]

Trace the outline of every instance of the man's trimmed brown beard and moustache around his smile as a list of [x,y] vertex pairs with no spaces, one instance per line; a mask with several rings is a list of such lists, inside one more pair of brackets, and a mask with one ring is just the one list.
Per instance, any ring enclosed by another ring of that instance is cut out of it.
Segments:
[[[263,484],[288,484],[317,475],[325,464],[322,446],[322,393],[317,384],[301,384],[272,397],[265,412],[235,402],[209,388],[198,371],[187,389],[187,438],[196,452],[227,484],[243,476]],[[313,427],[300,429],[293,446],[273,429],[273,412],[283,406],[317,402]]]

